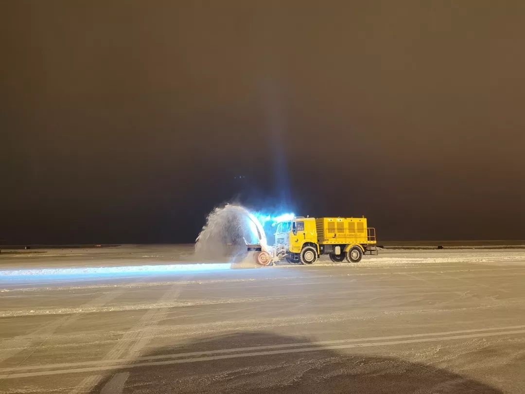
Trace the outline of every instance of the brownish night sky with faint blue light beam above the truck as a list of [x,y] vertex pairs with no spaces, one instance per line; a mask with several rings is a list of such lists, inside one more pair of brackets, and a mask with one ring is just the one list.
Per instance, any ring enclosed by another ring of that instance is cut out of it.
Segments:
[[525,239],[523,1],[6,0],[0,45],[4,244],[192,242],[227,201]]

